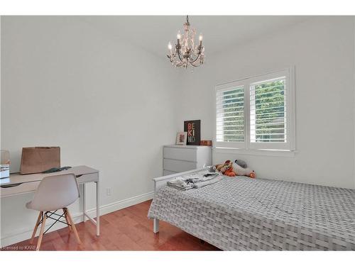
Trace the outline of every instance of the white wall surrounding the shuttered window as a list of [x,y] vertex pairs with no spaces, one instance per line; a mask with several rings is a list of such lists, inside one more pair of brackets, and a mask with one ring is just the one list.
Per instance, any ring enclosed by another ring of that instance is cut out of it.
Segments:
[[215,85],[295,66],[295,157],[214,153],[214,163],[239,158],[258,177],[355,187],[354,18],[312,18],[218,55],[206,53],[204,67],[185,73],[188,97],[177,121],[181,130],[184,119],[200,118],[204,139],[213,139]]

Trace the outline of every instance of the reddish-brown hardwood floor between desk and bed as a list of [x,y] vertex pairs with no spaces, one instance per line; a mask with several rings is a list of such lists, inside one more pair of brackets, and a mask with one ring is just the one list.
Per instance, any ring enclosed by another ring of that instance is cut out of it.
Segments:
[[[68,228],[46,233],[40,250],[218,250],[209,243],[201,243],[188,233],[160,221],[160,232],[153,233],[153,221],[147,218],[151,201],[100,216],[100,236],[90,222],[76,223],[82,244]],[[35,221],[33,221],[35,223]],[[29,240],[13,244],[4,250],[35,250]]]

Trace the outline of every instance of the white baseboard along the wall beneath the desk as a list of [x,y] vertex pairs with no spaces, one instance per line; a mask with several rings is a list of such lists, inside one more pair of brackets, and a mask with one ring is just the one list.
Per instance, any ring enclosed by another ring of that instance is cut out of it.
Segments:
[[[149,199],[153,199],[153,196],[154,196],[154,192],[148,192],[146,194],[133,196],[129,199],[123,199],[121,201],[116,201],[111,204],[100,206],[100,216],[104,214],[109,214],[113,211],[118,211],[120,209],[127,208],[129,206],[139,204],[143,201],[148,201]],[[87,214],[89,214],[89,216],[91,217],[96,217],[96,209],[87,210]],[[82,213],[72,214],[72,219],[75,223],[82,222],[83,221]],[[35,221],[33,221],[33,223],[35,223]],[[50,225],[51,223],[48,223],[48,225],[46,225],[45,228],[46,229],[49,228]],[[50,230],[48,230],[48,232],[55,231],[64,227],[65,224],[56,223],[52,228],[50,228]],[[28,228],[22,228],[16,231],[12,231],[11,233],[1,235],[0,248],[31,238],[32,232],[33,232],[33,227],[28,227]]]

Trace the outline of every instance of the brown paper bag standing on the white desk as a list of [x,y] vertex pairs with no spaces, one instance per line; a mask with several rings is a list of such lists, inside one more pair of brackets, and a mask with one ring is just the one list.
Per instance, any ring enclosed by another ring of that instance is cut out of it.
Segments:
[[60,147],[22,148],[21,174],[34,174],[60,167]]

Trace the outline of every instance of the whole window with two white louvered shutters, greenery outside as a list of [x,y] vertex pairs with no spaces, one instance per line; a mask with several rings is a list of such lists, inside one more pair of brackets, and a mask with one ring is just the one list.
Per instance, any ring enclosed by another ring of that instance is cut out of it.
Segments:
[[216,87],[216,139],[221,148],[294,150],[290,70]]

